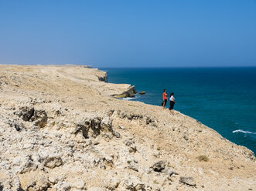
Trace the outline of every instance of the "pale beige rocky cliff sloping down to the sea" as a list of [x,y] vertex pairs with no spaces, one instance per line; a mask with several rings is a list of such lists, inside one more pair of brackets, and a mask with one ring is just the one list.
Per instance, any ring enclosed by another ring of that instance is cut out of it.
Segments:
[[82,66],[0,65],[0,190],[254,190],[251,150]]

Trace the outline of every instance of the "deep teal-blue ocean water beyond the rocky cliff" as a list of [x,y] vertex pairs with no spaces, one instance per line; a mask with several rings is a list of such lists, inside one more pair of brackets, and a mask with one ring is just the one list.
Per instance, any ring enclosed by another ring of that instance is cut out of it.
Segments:
[[160,106],[163,89],[168,95],[174,92],[174,109],[256,151],[256,67],[102,70],[108,72],[108,82],[146,92],[133,101]]

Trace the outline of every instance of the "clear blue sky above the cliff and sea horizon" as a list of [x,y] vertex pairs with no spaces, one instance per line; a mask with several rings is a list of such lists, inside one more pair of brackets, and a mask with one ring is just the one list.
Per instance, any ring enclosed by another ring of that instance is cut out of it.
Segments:
[[0,63],[256,66],[256,1],[0,0]]

